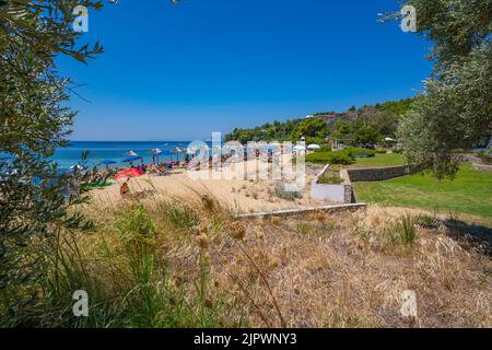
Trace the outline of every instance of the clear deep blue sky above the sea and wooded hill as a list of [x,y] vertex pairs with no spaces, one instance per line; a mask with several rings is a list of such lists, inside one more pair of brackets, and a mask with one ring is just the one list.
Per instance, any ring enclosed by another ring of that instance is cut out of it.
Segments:
[[[106,2],[106,1],[105,1]],[[73,140],[191,140],[413,96],[430,43],[377,23],[397,0],[120,0],[90,13],[105,52],[58,70],[86,84]],[[85,39],[85,38],[84,38]]]

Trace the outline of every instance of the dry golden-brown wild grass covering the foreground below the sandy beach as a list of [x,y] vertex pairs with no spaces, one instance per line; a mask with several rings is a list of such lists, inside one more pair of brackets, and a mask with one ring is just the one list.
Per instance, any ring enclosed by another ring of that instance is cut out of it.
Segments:
[[[144,249],[165,267],[148,287],[159,294],[169,283],[200,320],[177,326],[415,326],[400,314],[402,292],[413,290],[418,326],[492,327],[491,259],[443,225],[378,207],[241,221],[224,208],[198,191],[86,207],[97,226],[78,244],[89,280],[106,299],[131,291],[129,257]],[[162,326],[155,317],[138,326]]]

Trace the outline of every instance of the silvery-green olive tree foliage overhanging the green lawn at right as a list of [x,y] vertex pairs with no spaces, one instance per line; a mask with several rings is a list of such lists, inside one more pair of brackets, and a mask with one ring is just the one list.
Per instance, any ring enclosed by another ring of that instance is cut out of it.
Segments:
[[457,148],[492,135],[491,0],[411,0],[418,33],[434,42],[434,72],[400,127],[407,160],[454,176]]

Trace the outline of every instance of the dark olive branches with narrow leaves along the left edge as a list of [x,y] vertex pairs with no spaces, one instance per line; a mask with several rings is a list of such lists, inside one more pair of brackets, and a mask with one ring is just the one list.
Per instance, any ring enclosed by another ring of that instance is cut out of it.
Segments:
[[80,214],[68,214],[69,206],[81,197],[66,198],[63,189],[70,183],[60,178],[49,161],[66,143],[75,115],[66,107],[72,83],[58,75],[55,58],[66,55],[85,62],[102,51],[98,43],[78,44],[81,34],[72,30],[72,10],[79,4],[102,5],[74,0],[0,1],[0,296],[4,312],[12,310],[10,302],[34,300],[36,290],[31,285],[46,272],[60,230],[89,228]]

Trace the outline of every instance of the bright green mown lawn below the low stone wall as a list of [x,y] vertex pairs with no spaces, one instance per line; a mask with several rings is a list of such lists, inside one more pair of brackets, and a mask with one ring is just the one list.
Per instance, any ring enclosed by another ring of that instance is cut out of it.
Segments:
[[492,224],[492,173],[465,163],[454,182],[408,175],[385,182],[356,183],[358,201],[467,213]]

